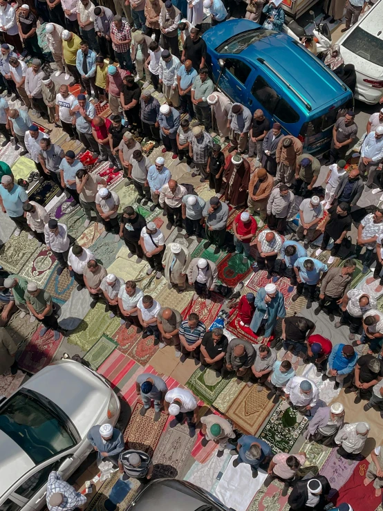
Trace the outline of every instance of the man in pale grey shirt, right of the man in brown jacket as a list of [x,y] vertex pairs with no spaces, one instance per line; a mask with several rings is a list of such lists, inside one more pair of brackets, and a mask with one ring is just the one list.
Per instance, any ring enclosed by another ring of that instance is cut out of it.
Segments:
[[277,185],[268,200],[268,227],[283,234],[286,230],[286,221],[290,218],[294,206],[295,195],[288,189],[288,185]]

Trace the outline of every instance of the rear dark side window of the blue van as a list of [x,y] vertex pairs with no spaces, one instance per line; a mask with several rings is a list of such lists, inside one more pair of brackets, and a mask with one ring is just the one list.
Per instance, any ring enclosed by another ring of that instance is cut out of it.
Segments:
[[251,93],[268,112],[282,122],[294,123],[299,121],[299,114],[286,100],[283,100],[283,97],[277,91],[274,91],[261,75],[256,77]]

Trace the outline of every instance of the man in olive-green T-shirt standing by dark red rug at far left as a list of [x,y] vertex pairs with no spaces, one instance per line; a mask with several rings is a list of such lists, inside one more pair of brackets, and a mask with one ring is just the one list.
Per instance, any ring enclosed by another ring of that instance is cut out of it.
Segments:
[[48,330],[51,330],[55,341],[58,341],[59,324],[53,313],[53,301],[48,291],[40,289],[35,282],[28,282],[24,298],[30,314],[44,325],[39,331],[39,337],[44,337]]

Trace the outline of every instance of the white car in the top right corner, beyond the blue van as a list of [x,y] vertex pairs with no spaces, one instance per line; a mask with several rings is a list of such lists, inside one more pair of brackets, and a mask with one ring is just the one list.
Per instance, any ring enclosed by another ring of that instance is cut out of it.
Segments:
[[345,64],[354,64],[357,73],[355,98],[378,103],[383,94],[383,1],[378,0],[339,39]]

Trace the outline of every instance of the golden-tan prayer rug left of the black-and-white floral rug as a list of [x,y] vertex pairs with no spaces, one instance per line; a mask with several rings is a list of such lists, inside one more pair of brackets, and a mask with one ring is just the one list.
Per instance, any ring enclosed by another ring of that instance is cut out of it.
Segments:
[[252,387],[246,385],[226,412],[235,427],[250,435],[258,431],[275,407],[272,400],[267,398],[268,390],[263,389],[262,392],[258,392],[256,388],[256,385]]

